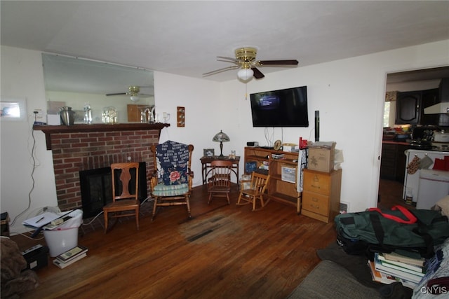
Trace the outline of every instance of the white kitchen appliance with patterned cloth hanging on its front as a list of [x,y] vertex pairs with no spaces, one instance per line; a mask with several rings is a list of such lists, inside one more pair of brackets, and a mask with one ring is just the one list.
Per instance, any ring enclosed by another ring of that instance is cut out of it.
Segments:
[[[418,158],[422,159],[425,156],[431,158],[431,160],[434,162],[436,158],[438,159],[444,159],[445,155],[449,155],[449,151],[425,151],[425,150],[416,150],[416,149],[408,149],[405,152],[405,155],[407,156],[406,160],[406,166],[412,162],[413,158],[417,156]],[[429,169],[432,169],[434,165],[430,165]],[[404,188],[402,192],[402,199],[406,199],[406,191],[407,188],[410,188],[412,195],[413,195],[413,202],[417,202],[418,193],[420,190],[420,172],[422,169],[418,169],[417,172],[414,174],[408,174],[407,168],[405,169],[406,177],[404,179]]]

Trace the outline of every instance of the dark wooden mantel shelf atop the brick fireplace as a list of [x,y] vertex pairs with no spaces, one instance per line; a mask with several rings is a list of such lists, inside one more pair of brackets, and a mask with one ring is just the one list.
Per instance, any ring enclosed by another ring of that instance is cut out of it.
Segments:
[[113,131],[136,131],[136,130],[161,130],[170,127],[168,123],[119,123],[119,124],[76,124],[76,125],[34,125],[33,130],[45,133],[47,149],[51,150],[51,134],[74,133],[74,132],[113,132]]

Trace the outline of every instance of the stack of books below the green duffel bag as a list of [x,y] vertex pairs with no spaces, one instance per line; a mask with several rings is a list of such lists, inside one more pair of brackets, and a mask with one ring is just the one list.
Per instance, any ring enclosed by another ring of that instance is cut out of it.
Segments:
[[426,274],[424,258],[410,258],[398,253],[375,253],[374,261],[368,261],[374,281],[391,284],[400,281],[403,286],[414,288]]

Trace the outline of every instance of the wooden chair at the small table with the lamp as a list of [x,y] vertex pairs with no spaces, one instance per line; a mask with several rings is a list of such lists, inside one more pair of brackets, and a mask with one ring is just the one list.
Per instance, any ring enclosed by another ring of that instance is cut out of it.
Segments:
[[231,192],[232,161],[214,160],[210,162],[210,167],[212,176],[208,179],[208,204],[212,197],[226,197],[227,204],[231,204],[229,192]]

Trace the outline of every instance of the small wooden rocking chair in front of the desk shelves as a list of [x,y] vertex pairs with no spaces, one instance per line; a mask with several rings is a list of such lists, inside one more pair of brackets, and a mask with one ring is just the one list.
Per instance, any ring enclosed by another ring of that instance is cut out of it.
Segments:
[[257,200],[260,200],[261,207],[259,209],[265,207],[265,205],[267,205],[267,203],[269,202],[269,199],[267,201],[264,201],[264,193],[267,189],[268,182],[269,175],[253,172],[253,174],[251,175],[250,188],[240,190],[239,200],[237,200],[237,204],[243,205],[252,203],[253,211],[256,211],[256,202]]

